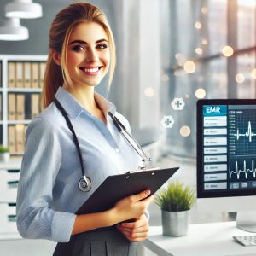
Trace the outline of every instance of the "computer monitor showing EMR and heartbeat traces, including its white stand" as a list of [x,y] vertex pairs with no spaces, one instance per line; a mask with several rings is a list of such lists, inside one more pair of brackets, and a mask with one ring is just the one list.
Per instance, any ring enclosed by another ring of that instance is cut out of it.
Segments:
[[197,209],[256,232],[256,100],[197,102]]

